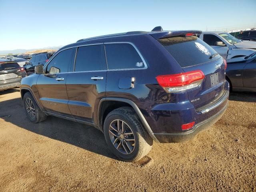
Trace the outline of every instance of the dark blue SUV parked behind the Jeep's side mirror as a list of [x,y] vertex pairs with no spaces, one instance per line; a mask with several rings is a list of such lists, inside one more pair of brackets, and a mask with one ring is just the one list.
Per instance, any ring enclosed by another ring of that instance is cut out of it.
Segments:
[[46,62],[53,56],[54,53],[37,54],[30,59],[29,63],[24,66],[27,74],[30,75],[35,72],[35,66],[39,64],[46,64]]

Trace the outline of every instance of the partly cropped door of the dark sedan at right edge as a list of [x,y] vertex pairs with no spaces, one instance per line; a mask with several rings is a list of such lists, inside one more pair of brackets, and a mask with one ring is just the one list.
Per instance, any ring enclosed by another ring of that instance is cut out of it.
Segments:
[[248,62],[243,70],[244,87],[256,88],[256,59]]

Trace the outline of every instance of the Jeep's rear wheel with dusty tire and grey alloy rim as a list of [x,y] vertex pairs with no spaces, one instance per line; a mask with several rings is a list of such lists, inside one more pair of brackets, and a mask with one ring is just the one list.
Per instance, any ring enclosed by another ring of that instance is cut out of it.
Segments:
[[115,109],[106,116],[104,136],[112,153],[127,162],[140,160],[153,145],[152,138],[130,107]]

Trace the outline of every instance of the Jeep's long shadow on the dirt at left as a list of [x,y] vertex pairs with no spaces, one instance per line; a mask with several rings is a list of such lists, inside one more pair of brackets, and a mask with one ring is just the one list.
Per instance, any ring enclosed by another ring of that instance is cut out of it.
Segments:
[[21,98],[0,102],[0,118],[36,134],[117,159],[108,149],[103,133],[92,126],[53,116],[37,124],[29,122]]

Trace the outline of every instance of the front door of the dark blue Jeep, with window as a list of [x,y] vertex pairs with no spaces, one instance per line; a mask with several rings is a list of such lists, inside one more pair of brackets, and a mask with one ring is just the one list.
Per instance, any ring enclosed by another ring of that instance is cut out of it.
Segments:
[[68,108],[68,94],[65,83],[68,72],[70,72],[73,52],[74,48],[61,50],[44,67],[45,74],[38,77],[37,87],[40,102],[48,112],[72,116]]

